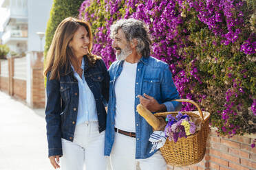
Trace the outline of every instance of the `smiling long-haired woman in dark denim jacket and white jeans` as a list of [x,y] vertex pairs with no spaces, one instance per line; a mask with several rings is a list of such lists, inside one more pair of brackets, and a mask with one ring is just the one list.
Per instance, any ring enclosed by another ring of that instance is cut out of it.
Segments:
[[[106,169],[104,130],[109,75],[91,53],[92,31],[72,17],[57,27],[47,53],[47,141],[54,169]],[[104,103],[104,104],[103,104]],[[61,157],[60,165],[59,158]]]

